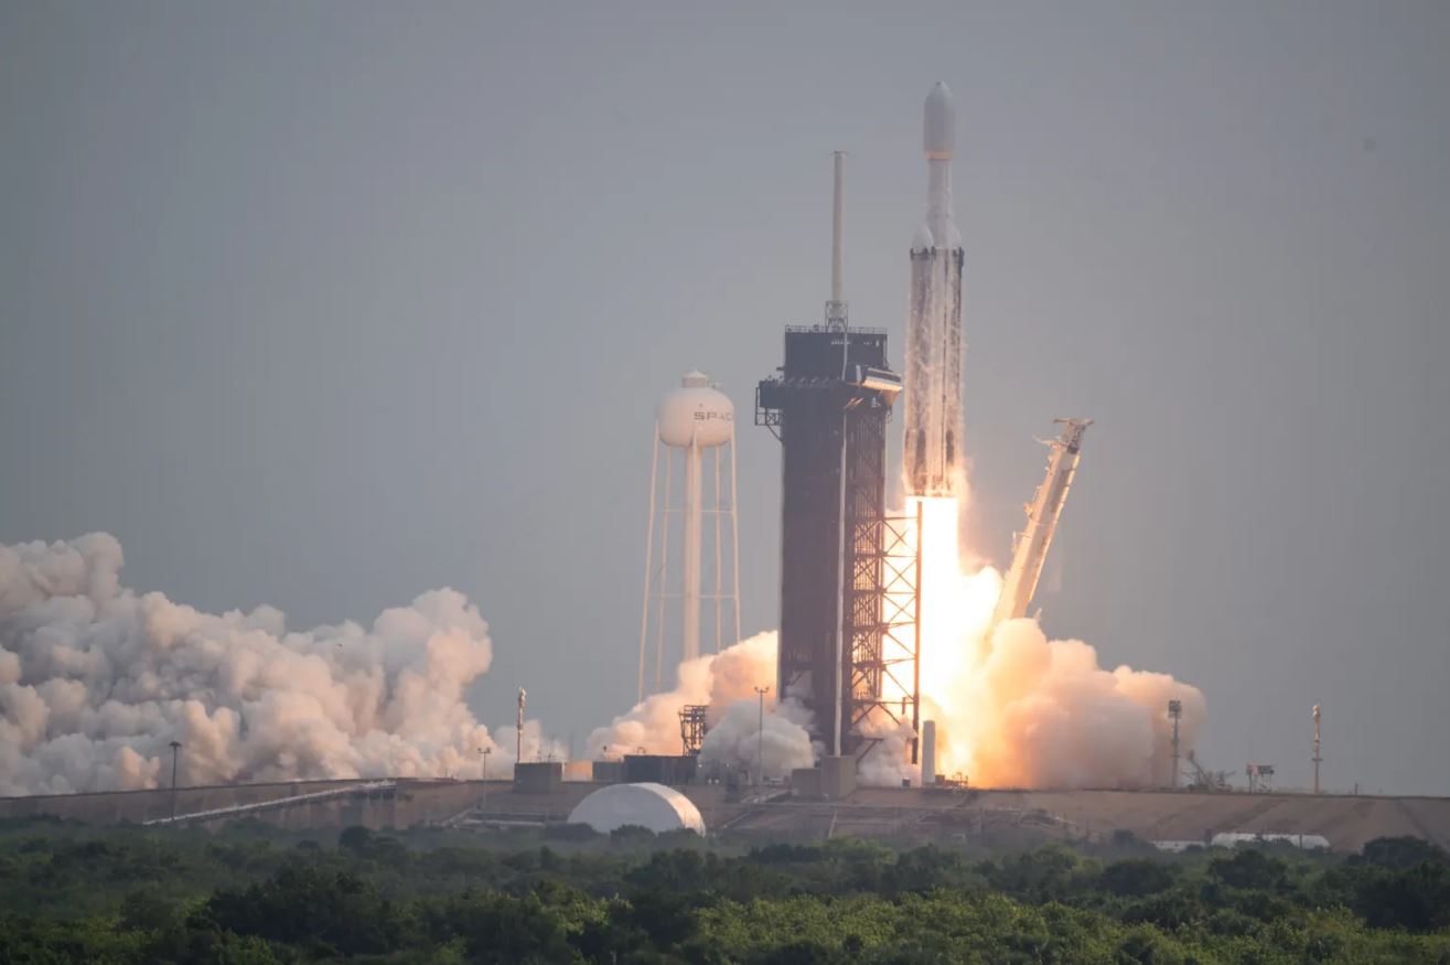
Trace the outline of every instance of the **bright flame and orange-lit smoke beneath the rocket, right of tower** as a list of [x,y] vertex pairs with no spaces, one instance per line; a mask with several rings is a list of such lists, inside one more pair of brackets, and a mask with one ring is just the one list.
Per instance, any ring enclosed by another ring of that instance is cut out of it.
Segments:
[[990,628],[1000,578],[964,572],[958,505],[927,501],[922,564],[922,717],[938,721],[937,772],[983,787],[1161,787],[1172,771],[1169,699],[1188,755],[1204,695],[1166,673],[1098,665],[1080,640],[1048,640],[1035,620]]

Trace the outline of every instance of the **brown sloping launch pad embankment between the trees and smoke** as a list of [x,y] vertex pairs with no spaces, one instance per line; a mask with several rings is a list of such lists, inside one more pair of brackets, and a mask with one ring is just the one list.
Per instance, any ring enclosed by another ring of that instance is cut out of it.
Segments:
[[[432,824],[516,833],[564,821],[580,800],[600,787],[606,785],[564,781],[548,791],[529,791],[512,781],[405,776],[233,784],[181,788],[177,810],[184,816],[181,823],[206,829],[252,818],[293,830]],[[741,842],[854,834],[950,845],[1111,840],[1128,831],[1143,840],[1201,845],[1217,834],[1322,836],[1337,852],[1359,850],[1369,840],[1392,836],[1450,846],[1450,798],[1433,797],[856,788],[842,800],[828,801],[784,788],[771,788],[761,798],[732,797],[719,784],[676,787],[699,807],[713,833]],[[0,818],[10,821],[51,816],[88,824],[145,824],[167,818],[171,810],[171,791],[165,788],[0,798]]]

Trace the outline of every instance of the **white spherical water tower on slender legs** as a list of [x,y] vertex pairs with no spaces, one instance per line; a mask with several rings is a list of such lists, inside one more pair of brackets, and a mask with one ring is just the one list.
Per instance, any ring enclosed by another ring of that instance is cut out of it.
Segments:
[[655,412],[647,544],[639,699],[651,643],[654,688],[664,685],[666,644],[674,637],[667,627],[679,627],[679,649],[668,647],[679,660],[700,656],[706,620],[713,652],[740,640],[735,406],[703,371],[684,373]]

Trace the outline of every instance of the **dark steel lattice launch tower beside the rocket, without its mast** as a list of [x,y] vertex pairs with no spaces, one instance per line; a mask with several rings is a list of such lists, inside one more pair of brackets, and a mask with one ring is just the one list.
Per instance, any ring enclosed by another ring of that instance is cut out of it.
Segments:
[[[887,637],[915,623],[915,551],[886,517],[886,421],[900,392],[886,332],[844,318],[786,329],[786,364],[755,389],[755,424],[782,443],[779,691],[815,717],[826,753],[867,749],[861,717],[892,673]],[[911,589],[908,588],[908,589]],[[915,666],[915,660],[912,660]],[[900,688],[895,688],[900,689]],[[892,701],[916,718],[918,688]],[[899,718],[898,718],[899,720]]]

